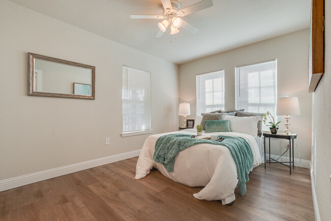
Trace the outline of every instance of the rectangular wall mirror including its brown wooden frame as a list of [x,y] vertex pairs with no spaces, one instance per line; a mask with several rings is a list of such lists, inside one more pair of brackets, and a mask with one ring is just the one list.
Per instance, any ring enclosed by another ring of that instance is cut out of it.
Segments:
[[30,96],[94,100],[95,67],[28,53]]

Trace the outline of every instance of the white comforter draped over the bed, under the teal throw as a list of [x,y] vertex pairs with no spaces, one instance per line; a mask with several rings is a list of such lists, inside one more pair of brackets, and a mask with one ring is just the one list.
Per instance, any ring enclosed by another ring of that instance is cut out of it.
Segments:
[[[158,137],[172,133],[197,134],[196,132],[186,130],[154,134],[147,137],[137,161],[135,179],[144,178],[152,167],[155,167],[164,176],[176,182],[188,186],[205,186],[200,192],[194,194],[194,197],[197,199],[222,200],[223,204],[234,201],[234,190],[238,183],[237,167],[227,147],[212,144],[198,144],[189,147],[176,155],[174,171],[171,173],[169,173],[162,164],[153,160],[155,143]],[[261,164],[259,148],[252,135],[236,132],[213,132],[204,134],[243,137],[250,144],[253,151],[254,162],[252,169]]]

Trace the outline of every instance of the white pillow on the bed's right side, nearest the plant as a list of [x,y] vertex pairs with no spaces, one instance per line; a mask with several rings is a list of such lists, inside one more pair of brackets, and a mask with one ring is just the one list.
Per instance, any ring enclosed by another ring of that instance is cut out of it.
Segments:
[[260,116],[253,117],[234,117],[229,115],[224,115],[224,120],[230,120],[231,132],[247,133],[255,138],[258,134],[257,124],[261,120]]

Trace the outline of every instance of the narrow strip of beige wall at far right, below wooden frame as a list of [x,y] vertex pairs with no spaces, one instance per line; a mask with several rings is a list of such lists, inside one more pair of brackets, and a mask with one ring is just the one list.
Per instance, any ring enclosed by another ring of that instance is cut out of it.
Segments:
[[321,220],[331,218],[331,1],[325,1],[325,64],[313,98],[312,177]]

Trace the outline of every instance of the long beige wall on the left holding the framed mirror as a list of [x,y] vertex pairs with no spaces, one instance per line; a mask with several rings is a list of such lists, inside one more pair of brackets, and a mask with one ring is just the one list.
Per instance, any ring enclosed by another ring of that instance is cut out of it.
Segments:
[[[0,40],[0,180],[141,149],[120,135],[123,65],[151,72],[153,133],[178,129],[177,65],[4,0]],[[27,52],[96,66],[95,100],[27,96]]]

